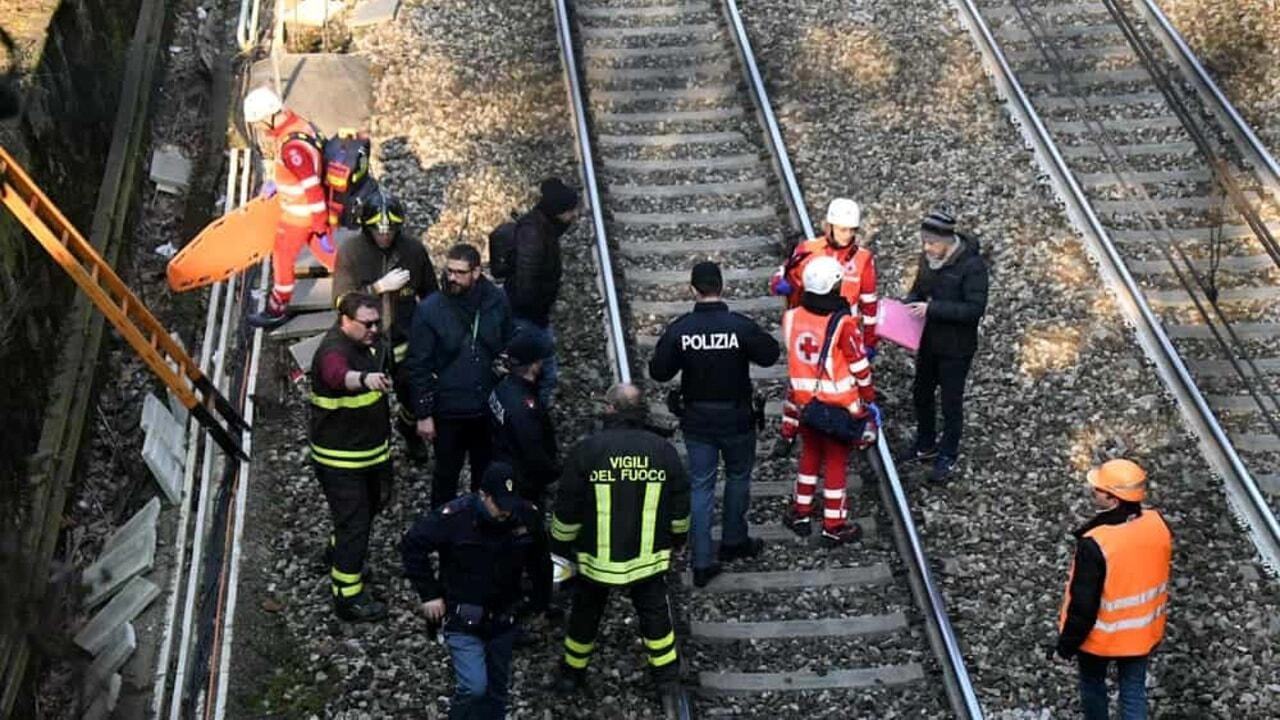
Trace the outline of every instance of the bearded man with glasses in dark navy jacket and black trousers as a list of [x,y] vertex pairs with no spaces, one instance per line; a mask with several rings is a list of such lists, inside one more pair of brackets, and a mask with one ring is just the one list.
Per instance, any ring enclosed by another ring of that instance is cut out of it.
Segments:
[[457,496],[467,459],[472,489],[489,465],[494,363],[512,332],[507,296],[480,274],[475,246],[449,249],[443,279],[444,287],[413,311],[407,359],[417,433],[435,448],[431,507]]

